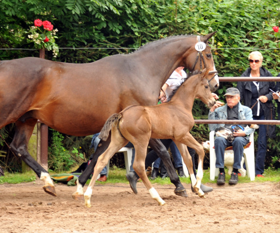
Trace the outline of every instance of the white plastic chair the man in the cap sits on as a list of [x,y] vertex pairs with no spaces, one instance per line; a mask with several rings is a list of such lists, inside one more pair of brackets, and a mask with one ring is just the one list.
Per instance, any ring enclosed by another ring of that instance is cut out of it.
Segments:
[[[215,132],[210,132],[210,180],[214,181],[215,176],[219,174],[219,168],[216,168],[216,153],[214,149]],[[255,152],[254,152],[254,133],[250,134],[249,142],[251,143],[248,148],[244,149],[244,158],[246,165],[246,173],[251,181],[255,180]],[[232,152],[233,150],[227,150]]]

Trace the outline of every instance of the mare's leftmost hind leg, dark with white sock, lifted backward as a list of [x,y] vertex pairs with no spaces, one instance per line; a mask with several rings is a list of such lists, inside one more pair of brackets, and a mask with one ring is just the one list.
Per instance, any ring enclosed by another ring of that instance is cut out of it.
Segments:
[[16,133],[10,147],[18,157],[20,157],[35,171],[40,180],[44,182],[44,191],[56,197],[56,192],[50,174],[42,166],[40,166],[27,151],[27,144],[36,123],[37,119],[28,119],[25,122],[17,121]]

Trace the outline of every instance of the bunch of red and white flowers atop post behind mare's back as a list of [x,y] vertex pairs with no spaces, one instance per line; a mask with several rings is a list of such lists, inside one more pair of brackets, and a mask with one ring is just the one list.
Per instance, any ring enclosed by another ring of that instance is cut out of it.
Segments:
[[56,57],[58,54],[58,46],[55,43],[57,32],[58,30],[53,29],[50,21],[35,19],[34,26],[30,27],[28,38],[34,42],[37,49],[52,50],[53,56]]

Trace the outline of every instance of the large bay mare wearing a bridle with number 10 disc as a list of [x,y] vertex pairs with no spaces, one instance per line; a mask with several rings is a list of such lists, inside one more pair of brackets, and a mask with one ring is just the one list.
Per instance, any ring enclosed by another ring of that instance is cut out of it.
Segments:
[[[85,136],[98,133],[106,119],[125,107],[155,105],[161,86],[176,67],[190,71],[209,67],[210,87],[219,86],[208,46],[214,33],[205,36],[175,36],[149,43],[131,54],[105,57],[88,64],[70,64],[27,57],[0,62],[0,128],[15,123],[11,150],[30,166],[44,182],[44,190],[56,196],[49,173],[27,151],[27,144],[37,120],[61,133]],[[198,40],[207,47],[197,52]],[[197,59],[201,54],[203,60]],[[195,62],[196,61],[196,62]],[[203,61],[203,62],[202,62]],[[81,190],[90,176],[98,156],[110,143],[102,143],[78,180]],[[183,189],[169,154],[151,139],[169,169],[171,182]],[[80,194],[74,194],[78,197]]]

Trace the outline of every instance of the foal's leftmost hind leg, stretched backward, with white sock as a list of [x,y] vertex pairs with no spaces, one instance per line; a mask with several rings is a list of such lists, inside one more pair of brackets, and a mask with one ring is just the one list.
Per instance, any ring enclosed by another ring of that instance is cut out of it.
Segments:
[[109,147],[107,148],[107,150],[105,150],[105,152],[102,155],[100,155],[100,157],[98,158],[97,163],[94,166],[92,178],[91,178],[88,188],[84,194],[86,207],[91,207],[90,198],[91,198],[92,189],[93,189],[95,181],[98,177],[98,174],[106,166],[109,159],[112,158],[113,155],[116,152],[118,152],[121,148],[123,148],[127,143],[128,143],[128,141],[120,134],[120,132],[118,130],[116,130],[115,128],[112,128],[111,143],[110,143]]

